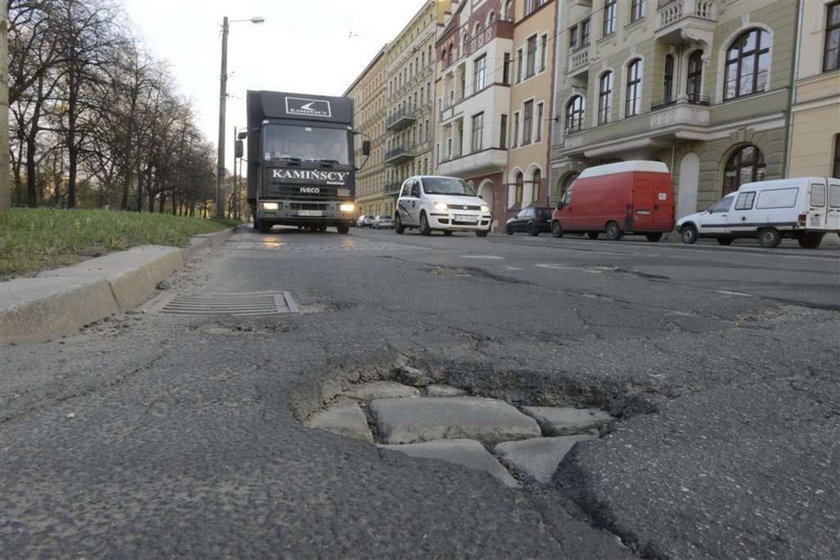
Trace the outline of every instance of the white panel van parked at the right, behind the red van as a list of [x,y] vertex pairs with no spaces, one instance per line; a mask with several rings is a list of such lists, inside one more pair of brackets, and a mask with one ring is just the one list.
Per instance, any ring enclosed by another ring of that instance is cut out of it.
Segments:
[[826,233],[840,233],[840,179],[745,183],[707,211],[677,220],[677,231],[683,243],[713,237],[729,245],[739,237],[757,237],[762,247],[776,247],[790,237],[800,247],[816,249]]

